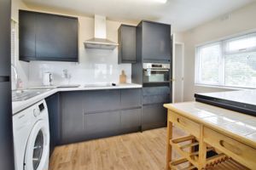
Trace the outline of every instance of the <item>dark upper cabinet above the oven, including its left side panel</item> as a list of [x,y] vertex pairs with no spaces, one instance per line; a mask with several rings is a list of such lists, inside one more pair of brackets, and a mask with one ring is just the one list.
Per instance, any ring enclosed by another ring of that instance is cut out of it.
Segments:
[[137,55],[143,62],[170,63],[171,26],[143,20],[137,26]]

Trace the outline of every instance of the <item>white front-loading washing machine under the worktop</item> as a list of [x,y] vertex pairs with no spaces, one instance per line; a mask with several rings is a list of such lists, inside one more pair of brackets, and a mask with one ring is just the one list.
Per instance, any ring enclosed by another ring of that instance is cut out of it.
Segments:
[[45,101],[13,116],[15,170],[48,170],[49,116]]

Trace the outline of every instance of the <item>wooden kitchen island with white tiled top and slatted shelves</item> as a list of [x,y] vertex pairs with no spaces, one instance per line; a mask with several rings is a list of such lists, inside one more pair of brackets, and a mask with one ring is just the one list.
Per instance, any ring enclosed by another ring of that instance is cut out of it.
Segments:
[[[164,106],[168,109],[167,170],[256,169],[255,116],[199,102]],[[173,139],[172,126],[188,135]],[[172,150],[180,159],[172,160]]]

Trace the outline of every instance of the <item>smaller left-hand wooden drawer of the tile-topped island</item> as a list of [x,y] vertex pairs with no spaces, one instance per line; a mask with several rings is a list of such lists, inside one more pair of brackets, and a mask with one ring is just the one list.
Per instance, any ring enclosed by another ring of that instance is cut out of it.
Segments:
[[192,134],[195,138],[200,137],[200,124],[193,122],[188,118],[178,115],[175,112],[169,112],[169,121],[173,122],[177,127],[182,128],[184,131]]

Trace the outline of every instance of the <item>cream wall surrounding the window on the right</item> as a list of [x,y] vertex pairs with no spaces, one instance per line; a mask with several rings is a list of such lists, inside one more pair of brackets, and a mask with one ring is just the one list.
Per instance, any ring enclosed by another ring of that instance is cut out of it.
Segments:
[[230,20],[218,18],[183,33],[185,42],[184,100],[193,100],[195,93],[227,91],[226,88],[195,86],[195,45],[221,37],[231,36],[256,28],[256,3],[247,5],[230,14]]

